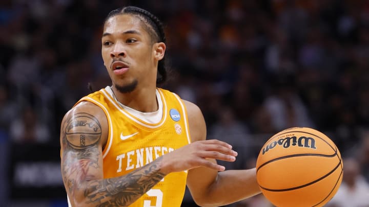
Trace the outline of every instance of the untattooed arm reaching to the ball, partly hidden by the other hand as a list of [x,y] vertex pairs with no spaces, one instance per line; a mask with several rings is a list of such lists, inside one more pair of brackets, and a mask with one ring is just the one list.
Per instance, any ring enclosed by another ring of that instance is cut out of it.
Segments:
[[[206,139],[206,124],[200,109],[184,101],[188,111],[191,139],[194,143]],[[215,159],[209,159],[216,163]],[[219,172],[210,168],[189,171],[187,186],[195,202],[201,206],[230,204],[260,193],[256,170],[226,170]]]

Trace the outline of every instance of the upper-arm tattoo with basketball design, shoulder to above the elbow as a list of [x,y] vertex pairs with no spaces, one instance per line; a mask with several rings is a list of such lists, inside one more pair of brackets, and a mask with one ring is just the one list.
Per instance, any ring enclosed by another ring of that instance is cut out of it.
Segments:
[[100,151],[97,143],[101,139],[101,125],[88,113],[76,113],[63,123],[62,173],[67,190],[74,195],[81,181],[89,180],[91,168],[99,168]]

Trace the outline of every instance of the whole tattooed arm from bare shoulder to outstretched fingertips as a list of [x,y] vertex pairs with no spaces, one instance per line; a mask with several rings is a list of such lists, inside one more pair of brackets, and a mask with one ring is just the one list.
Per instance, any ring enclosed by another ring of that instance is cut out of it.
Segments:
[[61,174],[73,206],[128,206],[165,175],[197,167],[223,171],[208,160],[234,160],[227,143],[199,141],[155,159],[131,173],[103,179],[103,147],[108,121],[98,106],[83,102],[71,109],[61,123]]

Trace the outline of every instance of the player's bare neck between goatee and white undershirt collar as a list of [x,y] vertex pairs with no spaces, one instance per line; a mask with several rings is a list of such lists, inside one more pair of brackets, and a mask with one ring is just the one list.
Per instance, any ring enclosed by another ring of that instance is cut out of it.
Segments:
[[136,88],[130,93],[121,93],[114,86],[111,88],[116,100],[125,106],[141,112],[154,112],[158,110],[156,87]]

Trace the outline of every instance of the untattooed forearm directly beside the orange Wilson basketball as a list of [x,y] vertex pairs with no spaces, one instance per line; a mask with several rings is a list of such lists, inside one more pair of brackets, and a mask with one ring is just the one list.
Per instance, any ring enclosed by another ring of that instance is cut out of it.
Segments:
[[212,184],[208,200],[217,205],[226,205],[260,193],[256,170],[227,170],[219,172]]

